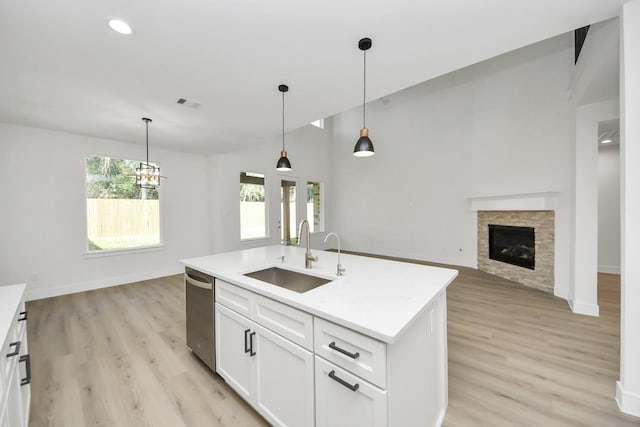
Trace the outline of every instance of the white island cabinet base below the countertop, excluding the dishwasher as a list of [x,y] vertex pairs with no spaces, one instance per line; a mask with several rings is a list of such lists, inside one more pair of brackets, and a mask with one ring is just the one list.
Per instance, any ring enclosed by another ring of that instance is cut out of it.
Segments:
[[393,343],[219,280],[215,316],[218,373],[274,426],[442,424],[444,291]]

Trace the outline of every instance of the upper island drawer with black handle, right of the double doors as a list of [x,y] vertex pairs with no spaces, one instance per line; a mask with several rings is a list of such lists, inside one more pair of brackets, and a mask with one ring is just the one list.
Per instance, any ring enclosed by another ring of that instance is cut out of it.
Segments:
[[314,319],[314,337],[317,355],[378,387],[387,387],[384,343],[318,317]]

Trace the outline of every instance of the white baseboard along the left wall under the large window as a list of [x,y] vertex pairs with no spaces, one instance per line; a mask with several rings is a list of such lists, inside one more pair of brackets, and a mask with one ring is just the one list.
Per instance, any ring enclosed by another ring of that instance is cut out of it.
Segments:
[[77,292],[92,291],[94,289],[108,288],[110,286],[118,286],[124,285],[126,283],[139,282],[142,280],[156,279],[158,277],[172,276],[174,274],[180,274],[183,271],[183,267],[171,266],[161,270],[146,271],[124,276],[108,277],[86,282],[69,283],[63,286],[34,288],[31,285],[27,286],[25,299],[27,301],[32,301],[36,299],[74,294]]

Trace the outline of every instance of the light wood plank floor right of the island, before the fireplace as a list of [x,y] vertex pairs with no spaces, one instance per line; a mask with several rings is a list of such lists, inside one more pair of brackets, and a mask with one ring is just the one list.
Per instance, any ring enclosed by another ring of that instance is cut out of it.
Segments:
[[600,317],[471,269],[448,292],[444,425],[640,426],[614,400],[620,374],[619,276],[598,277]]

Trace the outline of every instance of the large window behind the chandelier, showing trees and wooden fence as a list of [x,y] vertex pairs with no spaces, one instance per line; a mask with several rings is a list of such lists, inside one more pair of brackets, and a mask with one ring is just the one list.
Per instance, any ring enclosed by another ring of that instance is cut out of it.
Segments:
[[136,185],[139,163],[87,156],[87,248],[90,252],[160,244],[158,190]]

